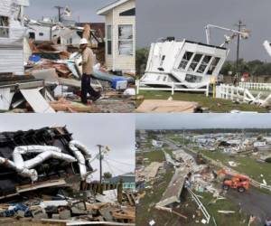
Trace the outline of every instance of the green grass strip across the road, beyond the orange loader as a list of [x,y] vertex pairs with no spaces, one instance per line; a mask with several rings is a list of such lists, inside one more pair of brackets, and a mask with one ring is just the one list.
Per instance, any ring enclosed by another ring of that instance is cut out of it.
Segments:
[[[247,174],[250,178],[261,183],[263,178],[260,174],[264,175],[264,179],[267,184],[271,184],[271,164],[258,163],[256,159],[249,156],[230,156],[222,153],[221,151],[210,152],[202,151],[203,155],[206,155],[214,160],[220,160],[223,165],[229,166],[229,161],[238,163],[237,167],[232,167],[241,174]],[[230,167],[230,166],[229,166]]]

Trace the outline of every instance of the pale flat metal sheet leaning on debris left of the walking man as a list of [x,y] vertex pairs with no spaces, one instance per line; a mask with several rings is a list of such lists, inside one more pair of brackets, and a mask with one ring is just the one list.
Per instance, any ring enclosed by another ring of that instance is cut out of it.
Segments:
[[49,103],[42,97],[40,88],[37,89],[21,89],[24,99],[33,108],[36,113],[55,113]]

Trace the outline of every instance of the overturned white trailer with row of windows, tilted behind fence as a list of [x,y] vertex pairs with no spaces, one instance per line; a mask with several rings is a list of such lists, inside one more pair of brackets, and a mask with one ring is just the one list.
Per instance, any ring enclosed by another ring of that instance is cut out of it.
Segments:
[[139,81],[149,87],[201,89],[218,78],[229,50],[225,47],[167,38],[152,43],[145,69]]

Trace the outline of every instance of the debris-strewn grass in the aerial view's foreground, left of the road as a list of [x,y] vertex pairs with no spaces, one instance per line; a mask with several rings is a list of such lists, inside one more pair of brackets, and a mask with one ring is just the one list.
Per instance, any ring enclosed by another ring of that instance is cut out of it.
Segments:
[[[172,153],[173,150],[165,149],[165,151],[169,154]],[[153,152],[145,152],[137,154],[144,158],[148,158],[149,162],[162,162],[164,161],[164,153],[163,151],[153,151]],[[172,179],[173,176],[173,167],[166,167],[165,173],[161,174],[154,180],[154,184],[152,184],[152,189],[145,189],[145,197],[140,200],[140,203],[136,207],[136,225],[149,225],[149,221],[154,220],[156,222],[156,226],[194,226],[194,225],[202,225],[201,223],[196,223],[196,221],[201,221],[203,218],[202,213],[198,211],[198,206],[195,202],[192,201],[192,197],[189,193],[182,193],[181,204],[176,209],[177,212],[181,212],[183,215],[187,216],[188,219],[185,221],[184,219],[174,215],[173,213],[158,211],[154,208],[155,203],[161,200],[161,197]],[[248,216],[244,212],[239,212],[238,205],[229,200],[220,200],[216,203],[211,203],[213,201],[213,197],[210,193],[198,193],[203,198],[201,202],[207,208],[207,211],[211,216],[214,216],[217,225],[220,226],[239,226],[239,225],[248,225]],[[223,214],[219,213],[218,210],[230,210],[235,213],[231,214]],[[193,218],[195,215],[195,218]],[[211,220],[208,225],[215,225]],[[257,224],[252,224],[256,226]],[[251,225],[251,226],[252,226]]]

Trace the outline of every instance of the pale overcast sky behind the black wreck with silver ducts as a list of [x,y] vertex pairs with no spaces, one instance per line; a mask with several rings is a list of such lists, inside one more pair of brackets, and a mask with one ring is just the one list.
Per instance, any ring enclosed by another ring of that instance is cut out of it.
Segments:
[[[135,171],[133,114],[2,114],[0,117],[0,132],[65,125],[72,137],[88,146],[93,155],[98,153],[97,145],[109,146],[111,151],[106,156],[109,167],[104,163],[104,172],[111,172],[110,168],[116,175]],[[99,169],[98,160],[93,167]],[[95,179],[98,177],[99,172],[95,173]]]

